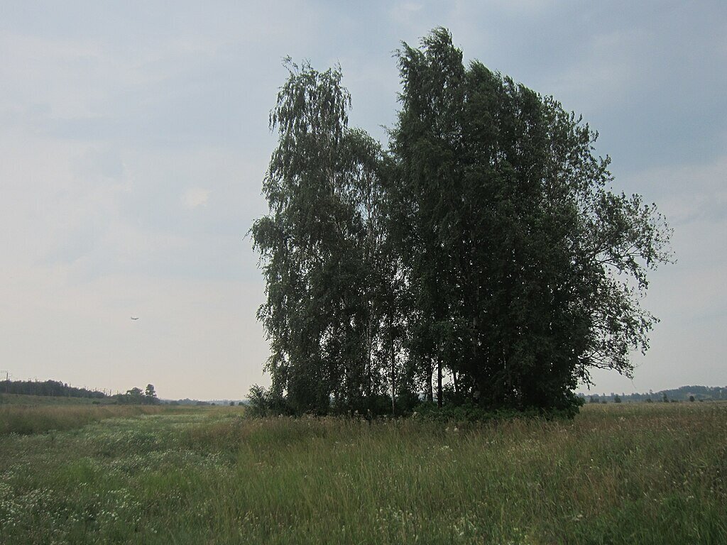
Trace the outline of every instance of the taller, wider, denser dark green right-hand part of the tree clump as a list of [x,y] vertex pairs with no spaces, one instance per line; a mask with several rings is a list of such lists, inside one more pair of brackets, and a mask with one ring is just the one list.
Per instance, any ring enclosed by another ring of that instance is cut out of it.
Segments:
[[630,375],[654,323],[639,307],[646,270],[670,259],[654,206],[609,189],[579,118],[465,68],[446,30],[398,60],[393,237],[425,392],[445,366],[480,405],[565,409],[591,368]]

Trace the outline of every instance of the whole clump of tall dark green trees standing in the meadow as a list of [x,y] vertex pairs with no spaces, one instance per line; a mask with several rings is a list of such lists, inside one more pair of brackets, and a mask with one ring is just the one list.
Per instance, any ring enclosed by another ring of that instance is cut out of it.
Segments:
[[254,222],[269,390],[293,413],[417,400],[569,408],[593,368],[630,374],[670,259],[653,205],[611,190],[597,134],[439,28],[398,50],[387,150],[348,126],[340,68],[286,63]]

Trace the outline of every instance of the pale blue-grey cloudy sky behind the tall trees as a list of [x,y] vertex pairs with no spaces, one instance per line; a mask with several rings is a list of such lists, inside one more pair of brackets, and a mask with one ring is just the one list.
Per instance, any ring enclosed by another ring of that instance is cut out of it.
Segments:
[[[265,4],[265,5],[263,5]],[[393,51],[449,28],[465,59],[600,132],[614,187],[656,202],[678,263],[633,381],[727,384],[727,3],[10,1],[0,4],[0,368],[160,397],[267,384],[249,239],[281,59],[340,62],[385,139]],[[139,320],[130,320],[131,316]]]

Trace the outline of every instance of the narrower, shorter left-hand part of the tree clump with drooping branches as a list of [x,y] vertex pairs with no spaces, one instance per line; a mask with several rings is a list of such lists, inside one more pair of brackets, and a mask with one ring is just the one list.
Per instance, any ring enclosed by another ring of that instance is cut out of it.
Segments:
[[398,323],[385,163],[377,142],[347,126],[340,70],[287,66],[270,114],[279,135],[263,185],[270,214],[251,229],[267,284],[258,318],[273,384],[251,399],[279,408],[284,396],[296,413],[362,411],[390,391]]

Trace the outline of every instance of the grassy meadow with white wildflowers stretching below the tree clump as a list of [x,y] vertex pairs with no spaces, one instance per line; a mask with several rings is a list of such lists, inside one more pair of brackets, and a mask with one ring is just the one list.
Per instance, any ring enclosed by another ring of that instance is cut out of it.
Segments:
[[727,405],[486,426],[242,411],[0,435],[0,543],[727,543]]

